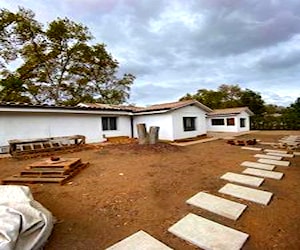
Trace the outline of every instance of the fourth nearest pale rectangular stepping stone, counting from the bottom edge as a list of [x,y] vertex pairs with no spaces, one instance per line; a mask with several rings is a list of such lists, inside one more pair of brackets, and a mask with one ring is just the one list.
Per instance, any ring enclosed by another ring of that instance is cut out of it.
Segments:
[[254,188],[243,187],[228,183],[219,190],[222,194],[228,194],[236,198],[253,201],[258,204],[268,205],[271,200],[272,193]]

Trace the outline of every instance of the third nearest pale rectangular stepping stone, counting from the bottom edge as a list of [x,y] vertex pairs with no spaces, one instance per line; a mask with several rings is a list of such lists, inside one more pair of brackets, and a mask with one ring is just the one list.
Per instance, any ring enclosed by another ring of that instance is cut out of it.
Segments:
[[186,203],[232,220],[237,220],[247,207],[244,204],[205,192],[194,195]]

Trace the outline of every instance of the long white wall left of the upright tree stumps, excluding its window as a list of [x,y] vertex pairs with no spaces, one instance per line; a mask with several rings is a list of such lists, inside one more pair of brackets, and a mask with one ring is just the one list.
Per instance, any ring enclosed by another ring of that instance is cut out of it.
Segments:
[[[0,113],[0,146],[8,140],[30,139],[80,134],[88,143],[101,142],[103,134],[130,136],[130,117],[118,116],[118,130],[102,131],[101,116],[96,114],[68,113]],[[113,115],[111,115],[113,116]]]

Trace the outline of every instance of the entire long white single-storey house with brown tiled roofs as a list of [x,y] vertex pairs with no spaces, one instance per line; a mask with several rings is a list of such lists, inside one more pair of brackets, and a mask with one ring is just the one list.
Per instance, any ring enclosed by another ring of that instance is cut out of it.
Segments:
[[213,111],[194,100],[146,108],[107,104],[70,107],[0,103],[0,146],[7,145],[12,139],[75,134],[84,135],[88,143],[102,142],[114,136],[137,137],[138,123],[145,123],[148,128],[159,126],[159,138],[170,141],[203,135],[207,131],[249,130],[249,115],[253,113],[248,108],[227,111]]

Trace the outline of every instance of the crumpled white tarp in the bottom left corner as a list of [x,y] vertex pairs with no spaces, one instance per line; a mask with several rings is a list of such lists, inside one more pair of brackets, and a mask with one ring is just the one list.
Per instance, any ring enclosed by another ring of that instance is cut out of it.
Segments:
[[0,250],[41,249],[53,224],[52,214],[28,187],[0,185]]

